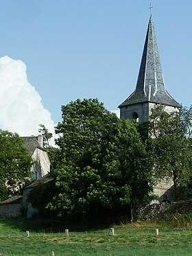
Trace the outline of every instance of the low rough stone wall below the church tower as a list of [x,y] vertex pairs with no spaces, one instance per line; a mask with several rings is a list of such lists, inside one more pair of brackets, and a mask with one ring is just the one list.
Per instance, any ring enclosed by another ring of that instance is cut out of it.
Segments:
[[192,200],[161,202],[147,205],[136,210],[139,220],[162,219],[166,213],[192,213]]

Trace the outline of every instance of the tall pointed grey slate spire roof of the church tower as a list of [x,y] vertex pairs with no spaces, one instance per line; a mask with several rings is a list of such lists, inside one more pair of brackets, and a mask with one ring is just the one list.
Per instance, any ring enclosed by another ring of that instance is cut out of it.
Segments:
[[136,89],[119,108],[142,102],[181,107],[165,89],[152,15],[147,27]]

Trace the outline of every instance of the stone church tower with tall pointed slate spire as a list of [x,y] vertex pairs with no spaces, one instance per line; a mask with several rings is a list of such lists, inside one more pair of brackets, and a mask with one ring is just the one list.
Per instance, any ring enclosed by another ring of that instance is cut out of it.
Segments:
[[[119,105],[121,119],[136,119],[145,122],[156,105],[165,106],[167,113],[179,111],[181,105],[166,91],[154,22],[150,16],[139,75],[134,92]],[[158,201],[172,200],[173,181],[157,181],[154,193]]]

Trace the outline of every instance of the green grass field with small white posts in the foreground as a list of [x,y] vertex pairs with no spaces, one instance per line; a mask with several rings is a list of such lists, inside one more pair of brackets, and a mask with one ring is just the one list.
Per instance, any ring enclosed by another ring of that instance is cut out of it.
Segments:
[[[67,228],[67,227],[66,227]],[[3,256],[64,255],[192,255],[192,231],[165,229],[153,223],[114,226],[97,231],[45,233],[38,223],[0,220],[0,253]],[[156,228],[159,234],[156,235]],[[29,237],[25,231],[29,230]]]

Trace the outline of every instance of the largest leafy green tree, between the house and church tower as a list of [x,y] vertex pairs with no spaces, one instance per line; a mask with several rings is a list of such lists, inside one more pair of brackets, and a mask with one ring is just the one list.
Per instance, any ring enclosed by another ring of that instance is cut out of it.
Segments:
[[136,123],[120,120],[98,100],[62,106],[56,127],[56,186],[49,203],[58,216],[147,202],[151,165]]

